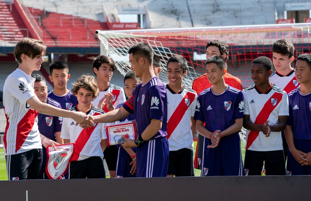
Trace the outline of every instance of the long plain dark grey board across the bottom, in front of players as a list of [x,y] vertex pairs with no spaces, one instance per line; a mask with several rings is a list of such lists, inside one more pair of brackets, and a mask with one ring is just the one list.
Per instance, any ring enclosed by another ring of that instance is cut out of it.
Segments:
[[0,181],[1,200],[310,200],[310,176]]

